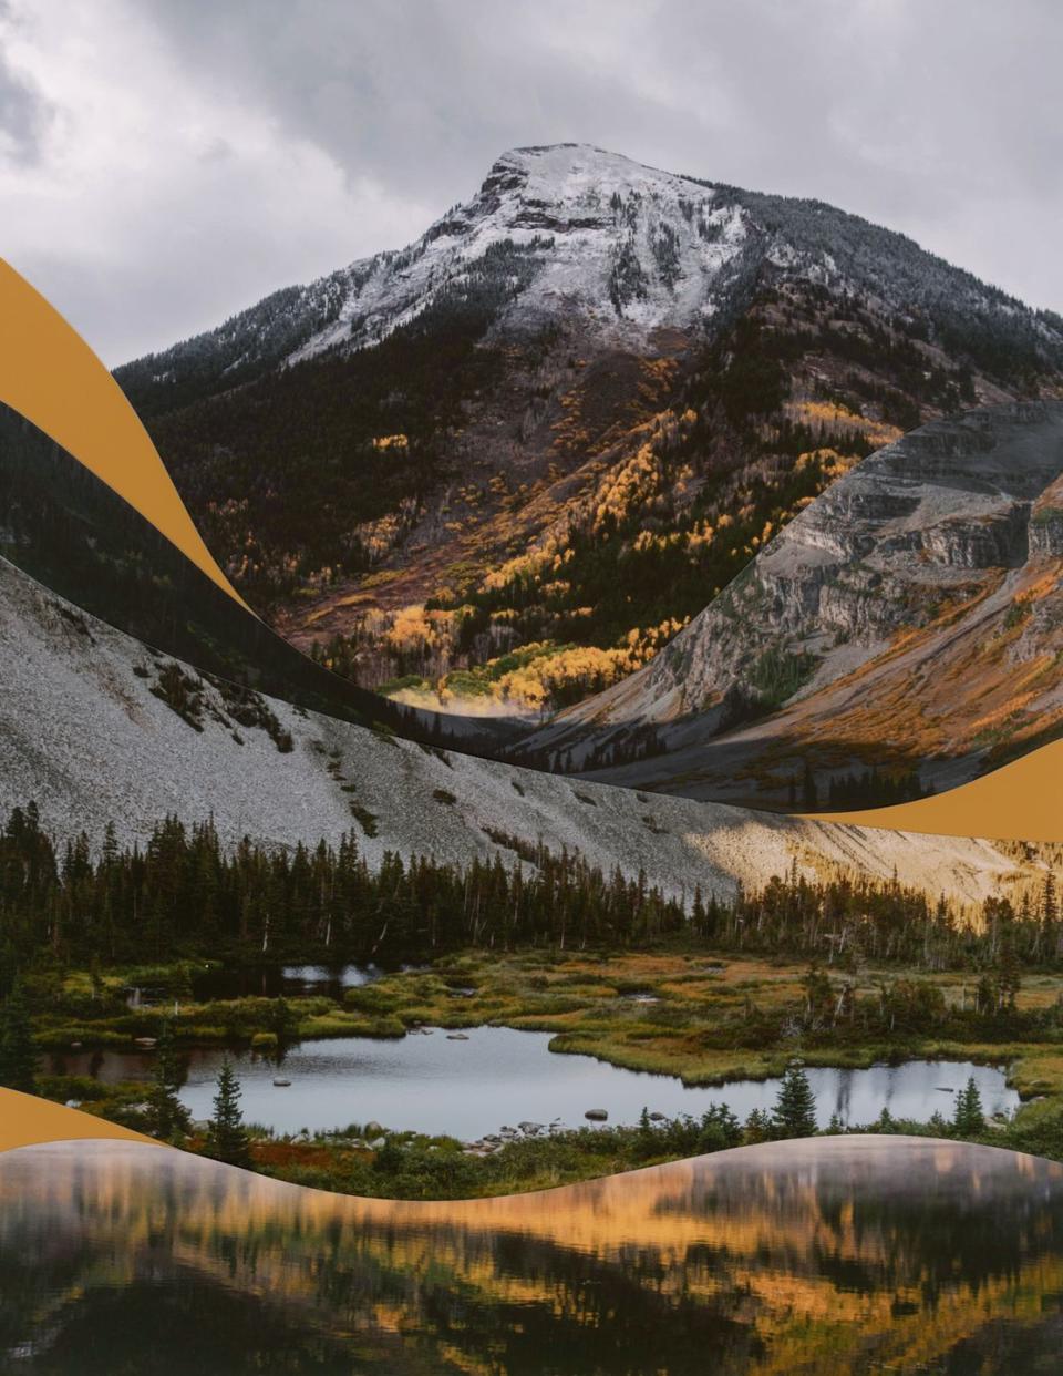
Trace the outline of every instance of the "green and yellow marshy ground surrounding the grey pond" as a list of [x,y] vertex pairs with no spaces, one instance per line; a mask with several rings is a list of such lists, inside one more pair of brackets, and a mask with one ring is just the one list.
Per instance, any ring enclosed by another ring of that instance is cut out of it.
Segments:
[[[804,1065],[858,1068],[888,1061],[974,1061],[1007,1066],[1023,1101],[983,1141],[1063,1159],[1063,970],[1024,971],[1015,1007],[975,1011],[969,971],[909,976],[898,969],[822,971],[787,959],[712,952],[689,944],[648,951],[468,951],[432,966],[384,974],[338,998],[190,996],[204,962],[63,976],[52,1009],[34,1020],[50,1073],[39,1093],[151,1128],[144,1080],[105,1083],[63,1073],[72,1047],[132,1049],[169,1020],[179,1046],[253,1046],[272,1057],[285,1042],[403,1038],[408,1029],[481,1025],[553,1033],[550,1050],[627,1069],[721,1084]],[[155,1004],[128,1007],[120,992],[149,984]],[[334,991],[340,992],[340,991]],[[176,1013],[175,1013],[176,1009]],[[72,1013],[78,1010],[78,1015]],[[279,1062],[282,1066],[282,1060]],[[282,1075],[282,1068],[278,1075]],[[726,1093],[722,1094],[726,1101]],[[366,1110],[371,1110],[367,1083]],[[945,1105],[952,1109],[953,1101]],[[879,1131],[919,1131],[883,1119]],[[953,1131],[936,1119],[923,1130]],[[495,1142],[487,1150],[448,1137],[391,1132],[377,1123],[281,1137],[252,1127],[254,1168],[307,1185],[389,1197],[470,1197],[542,1189],[615,1174],[770,1135],[763,1123],[644,1121]],[[968,1134],[969,1135],[969,1134]],[[206,1148],[205,1124],[183,1145]]]

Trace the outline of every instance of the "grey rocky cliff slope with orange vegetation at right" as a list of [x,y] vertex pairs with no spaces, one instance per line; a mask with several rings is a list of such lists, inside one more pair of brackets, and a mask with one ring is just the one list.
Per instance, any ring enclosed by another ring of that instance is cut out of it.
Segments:
[[[1048,739],[1063,729],[1060,473],[1060,403],[993,407],[903,436],[796,516],[645,670],[561,714],[529,749],[572,751],[575,764],[597,750],[608,762],[611,733],[620,744],[626,731],[663,725],[675,760],[666,753],[639,776],[685,791],[672,771],[689,782],[699,743],[708,773],[714,749],[748,773],[813,743],[828,762],[831,747],[843,751],[839,765],[934,773],[967,758],[974,773],[986,757]],[[1033,678],[1019,673],[1031,660]],[[923,717],[908,738],[902,714],[883,713],[903,692]],[[737,727],[766,711],[756,728]],[[727,727],[741,749],[727,750]],[[693,787],[712,795],[707,776]]]

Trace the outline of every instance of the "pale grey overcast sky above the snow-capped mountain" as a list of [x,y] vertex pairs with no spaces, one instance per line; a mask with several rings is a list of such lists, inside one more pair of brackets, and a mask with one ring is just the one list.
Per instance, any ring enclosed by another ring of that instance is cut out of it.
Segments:
[[0,255],[110,365],[586,140],[1063,310],[1056,0],[0,0]]

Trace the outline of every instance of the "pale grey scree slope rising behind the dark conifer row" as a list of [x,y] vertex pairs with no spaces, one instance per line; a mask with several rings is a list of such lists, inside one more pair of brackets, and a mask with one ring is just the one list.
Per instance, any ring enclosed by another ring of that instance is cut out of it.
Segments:
[[[668,893],[725,897],[796,859],[894,871],[978,900],[1020,882],[987,841],[892,834],[572,782],[395,740],[235,691],[80,612],[0,560],[0,809],[36,801],[61,837],[146,839],[165,813],[209,815],[227,843],[290,846],[351,830],[385,850],[518,861],[542,841]],[[527,863],[527,861],[525,861]]]

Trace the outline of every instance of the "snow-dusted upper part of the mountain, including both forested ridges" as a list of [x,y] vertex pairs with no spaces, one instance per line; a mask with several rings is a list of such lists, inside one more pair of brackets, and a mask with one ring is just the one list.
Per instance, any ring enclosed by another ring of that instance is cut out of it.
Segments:
[[[153,411],[168,392],[180,398],[193,374],[210,391],[227,388],[326,350],[370,347],[432,307],[483,294],[507,325],[578,315],[637,344],[638,330],[712,322],[762,267],[873,290],[894,310],[985,312],[1000,316],[997,329],[1011,316],[1005,333],[1049,352],[1063,347],[1057,321],[857,216],[558,143],[503,153],[472,200],[407,248],[276,292],[117,376]],[[617,330],[623,322],[635,329]]]

